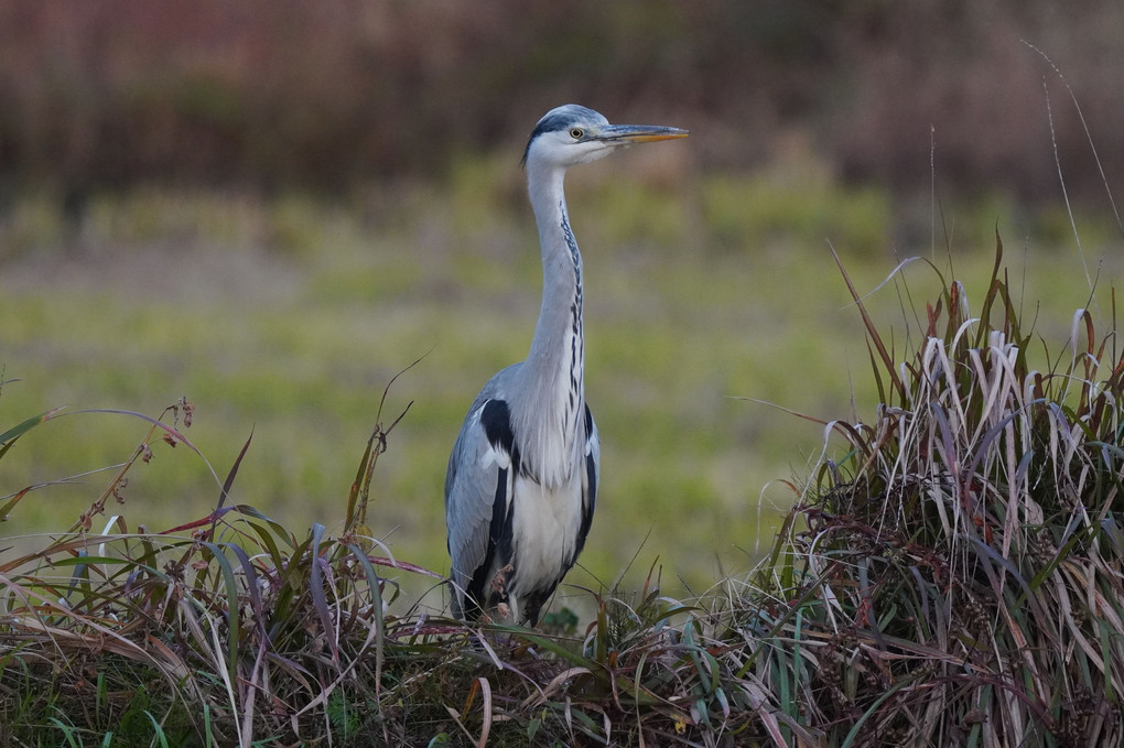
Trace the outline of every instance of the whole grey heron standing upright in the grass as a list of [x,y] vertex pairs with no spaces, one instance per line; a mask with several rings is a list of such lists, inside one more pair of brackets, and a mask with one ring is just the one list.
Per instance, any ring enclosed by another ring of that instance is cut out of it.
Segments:
[[566,168],[633,143],[687,130],[610,125],[565,104],[538,120],[523,165],[543,261],[543,302],[526,361],[484,385],[445,474],[453,614],[496,611],[538,622],[586,542],[597,501],[600,439],[584,390],[581,255],[570,229]]

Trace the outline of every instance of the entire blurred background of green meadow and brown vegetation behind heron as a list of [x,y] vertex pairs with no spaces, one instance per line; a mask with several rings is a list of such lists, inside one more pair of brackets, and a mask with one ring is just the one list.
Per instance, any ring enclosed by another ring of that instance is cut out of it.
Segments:
[[[1043,368],[1075,310],[1112,312],[1122,35],[1112,0],[0,0],[0,431],[185,395],[220,477],[253,431],[233,501],[338,528],[383,390],[420,358],[386,398],[384,426],[413,407],[368,523],[444,569],[448,447],[538,309],[518,159],[579,102],[692,135],[568,181],[605,443],[570,581],[655,564],[701,592],[768,548],[824,449],[786,411],[877,405],[828,243],[897,355],[941,274],[982,295],[997,230]],[[933,266],[880,285],[912,256]],[[0,504],[51,484],[0,531],[69,527],[146,430],[29,434]],[[130,528],[219,489],[184,449],[129,481],[109,510]]]

